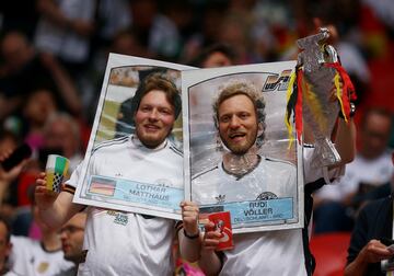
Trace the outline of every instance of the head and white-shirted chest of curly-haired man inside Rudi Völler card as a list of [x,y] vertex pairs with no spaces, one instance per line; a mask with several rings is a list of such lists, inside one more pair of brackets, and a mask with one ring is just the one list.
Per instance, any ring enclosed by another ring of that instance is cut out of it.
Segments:
[[198,188],[192,198],[197,204],[217,204],[296,196],[296,165],[257,152],[266,128],[265,101],[257,89],[247,82],[230,83],[213,103],[213,113],[228,150],[218,165],[193,176]]

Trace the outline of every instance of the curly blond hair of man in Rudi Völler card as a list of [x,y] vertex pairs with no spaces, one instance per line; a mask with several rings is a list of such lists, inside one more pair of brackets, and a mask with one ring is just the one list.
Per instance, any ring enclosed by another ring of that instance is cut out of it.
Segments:
[[266,113],[265,113],[265,101],[263,94],[257,90],[257,88],[246,80],[231,80],[223,85],[219,87],[218,97],[213,101],[213,122],[215,126],[219,129],[219,106],[225,100],[234,95],[245,95],[247,96],[256,112],[257,124],[262,126],[262,134],[256,138],[257,147],[260,147],[265,139],[265,129],[266,129]]

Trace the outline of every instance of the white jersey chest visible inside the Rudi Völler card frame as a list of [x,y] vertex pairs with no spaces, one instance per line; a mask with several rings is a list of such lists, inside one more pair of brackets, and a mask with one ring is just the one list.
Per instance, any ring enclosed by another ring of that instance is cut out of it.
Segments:
[[296,165],[281,160],[258,159],[252,171],[241,176],[224,171],[222,162],[192,181],[192,200],[219,204],[279,197],[297,198]]

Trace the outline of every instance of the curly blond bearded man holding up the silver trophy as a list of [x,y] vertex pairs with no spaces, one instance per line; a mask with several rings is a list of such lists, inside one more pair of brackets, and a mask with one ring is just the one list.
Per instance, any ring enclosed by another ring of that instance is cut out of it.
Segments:
[[[292,195],[297,191],[296,168],[291,163],[257,154],[264,139],[265,104],[257,89],[246,81],[233,80],[219,91],[213,116],[219,136],[228,148],[222,162],[195,175],[192,198],[197,204],[259,200]],[[355,127],[339,119],[336,147],[341,163],[328,168],[331,179],[343,173],[343,165],[355,152]],[[308,227],[311,217],[312,191],[324,184],[322,170],[311,168],[313,148],[304,147],[305,225],[303,229],[239,233],[233,235],[234,249],[217,252],[221,233],[213,222],[205,225],[199,234],[198,207],[183,207],[186,237],[194,246],[184,257],[198,261],[207,275],[312,275],[314,260],[309,250]],[[309,199],[309,200],[306,200]],[[185,204],[186,205],[186,204]],[[197,239],[199,238],[199,239]]]

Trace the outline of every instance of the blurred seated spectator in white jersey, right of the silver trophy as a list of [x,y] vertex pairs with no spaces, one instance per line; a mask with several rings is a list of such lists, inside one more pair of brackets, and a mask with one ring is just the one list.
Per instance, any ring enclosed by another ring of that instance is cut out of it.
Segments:
[[346,166],[340,180],[325,185],[314,195],[316,233],[350,231],[355,211],[361,205],[390,194],[394,168],[386,147],[392,118],[385,110],[371,108],[364,113],[355,160]]

